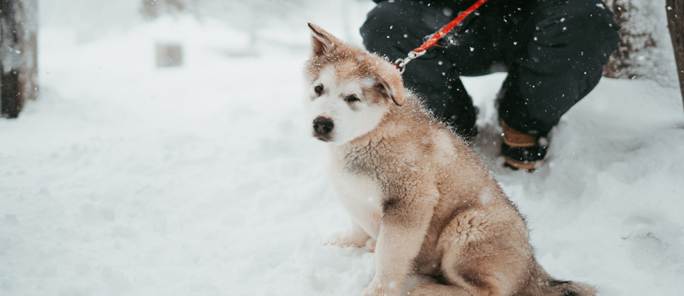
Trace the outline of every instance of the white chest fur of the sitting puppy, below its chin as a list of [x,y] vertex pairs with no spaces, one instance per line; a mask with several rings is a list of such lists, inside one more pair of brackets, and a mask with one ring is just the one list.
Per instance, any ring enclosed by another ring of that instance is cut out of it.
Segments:
[[355,175],[344,171],[341,160],[330,153],[326,171],[342,206],[372,238],[380,231],[382,211],[381,189],[378,183],[365,175]]

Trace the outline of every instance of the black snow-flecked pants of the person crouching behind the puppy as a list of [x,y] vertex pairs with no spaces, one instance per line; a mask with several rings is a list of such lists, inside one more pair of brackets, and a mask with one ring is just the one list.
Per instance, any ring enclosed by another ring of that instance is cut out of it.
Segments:
[[[377,2],[361,27],[363,42],[395,61],[475,0]],[[476,115],[460,75],[506,71],[499,118],[545,136],[597,85],[617,47],[618,28],[601,0],[489,0],[441,47],[411,61],[403,79],[436,116],[468,133]]]

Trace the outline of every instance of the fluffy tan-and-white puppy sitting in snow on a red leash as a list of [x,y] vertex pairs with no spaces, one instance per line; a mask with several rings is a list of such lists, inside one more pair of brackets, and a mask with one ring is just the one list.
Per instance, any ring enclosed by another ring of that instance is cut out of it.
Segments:
[[398,295],[411,273],[439,283],[410,296],[594,295],[537,264],[518,209],[468,144],[404,90],[392,63],[309,27],[307,115],[353,224],[331,242],[377,256],[362,295]]

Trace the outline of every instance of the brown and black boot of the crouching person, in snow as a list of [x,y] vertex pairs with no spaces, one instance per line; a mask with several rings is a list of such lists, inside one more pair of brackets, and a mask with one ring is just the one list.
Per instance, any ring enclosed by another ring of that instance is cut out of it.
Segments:
[[501,121],[501,128],[503,128],[501,154],[506,160],[506,166],[514,170],[534,171],[537,161],[546,156],[546,146],[539,144],[539,137],[518,132],[503,121]]

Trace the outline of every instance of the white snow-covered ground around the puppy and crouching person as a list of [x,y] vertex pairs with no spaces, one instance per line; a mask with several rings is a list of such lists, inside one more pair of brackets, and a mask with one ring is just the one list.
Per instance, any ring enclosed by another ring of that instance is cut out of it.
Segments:
[[[216,20],[43,27],[39,99],[0,118],[0,295],[360,295],[374,254],[323,244],[348,218],[303,120],[300,25],[262,32],[256,56]],[[184,66],[155,68],[158,40],[181,42]],[[496,154],[502,80],[465,79],[475,144],[546,270],[601,295],[684,295],[679,91],[602,80],[530,174]]]

